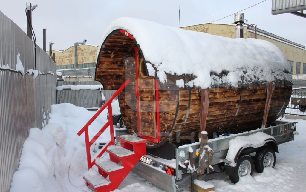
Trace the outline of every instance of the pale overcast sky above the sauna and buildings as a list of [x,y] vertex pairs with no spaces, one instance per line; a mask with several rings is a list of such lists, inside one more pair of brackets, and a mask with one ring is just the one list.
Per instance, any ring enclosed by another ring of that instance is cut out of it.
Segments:
[[[37,44],[42,47],[43,28],[47,28],[53,49],[65,50],[75,42],[99,45],[106,27],[119,17],[136,17],[164,25],[180,26],[209,23],[238,12],[263,0],[32,0],[38,7],[32,12],[33,28]],[[22,30],[27,30],[24,0],[2,1],[0,11],[12,19]],[[249,24],[306,45],[306,18],[285,13],[271,14],[272,0],[242,11]],[[234,16],[217,21],[233,23]],[[48,48],[47,48],[48,49]]]

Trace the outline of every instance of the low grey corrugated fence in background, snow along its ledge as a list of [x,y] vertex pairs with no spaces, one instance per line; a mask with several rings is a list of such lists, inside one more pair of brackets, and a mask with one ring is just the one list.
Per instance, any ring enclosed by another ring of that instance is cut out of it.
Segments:
[[[62,85],[101,85],[98,81],[58,81],[56,86]],[[84,108],[100,108],[102,106],[102,94],[106,101],[116,92],[116,90],[90,90],[82,88],[80,90],[63,89],[56,91],[57,103],[72,103]]]

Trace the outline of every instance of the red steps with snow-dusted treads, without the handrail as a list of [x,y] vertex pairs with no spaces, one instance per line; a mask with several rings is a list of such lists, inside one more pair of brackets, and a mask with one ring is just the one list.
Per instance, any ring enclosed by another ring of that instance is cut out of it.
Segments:
[[106,151],[110,159],[97,158],[95,160],[99,172],[90,169],[83,176],[87,184],[97,192],[117,189],[140,158],[147,154],[146,139],[134,135],[121,135],[118,136],[118,139],[120,146],[107,147]]

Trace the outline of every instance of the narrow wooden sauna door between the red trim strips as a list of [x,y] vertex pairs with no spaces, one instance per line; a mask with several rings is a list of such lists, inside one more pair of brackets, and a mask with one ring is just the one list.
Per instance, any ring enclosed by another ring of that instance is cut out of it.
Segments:
[[155,79],[146,75],[145,63],[142,58],[137,58],[136,96],[138,102],[138,135],[153,142],[157,140],[156,123],[156,94]]

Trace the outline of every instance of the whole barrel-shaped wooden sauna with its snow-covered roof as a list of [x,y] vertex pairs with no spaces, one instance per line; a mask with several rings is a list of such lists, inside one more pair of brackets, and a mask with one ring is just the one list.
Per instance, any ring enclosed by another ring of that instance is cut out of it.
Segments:
[[286,57],[270,42],[120,18],[103,37],[95,80],[114,90],[127,79],[121,114],[148,148],[269,126],[292,86]]

